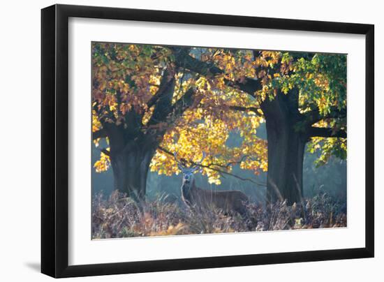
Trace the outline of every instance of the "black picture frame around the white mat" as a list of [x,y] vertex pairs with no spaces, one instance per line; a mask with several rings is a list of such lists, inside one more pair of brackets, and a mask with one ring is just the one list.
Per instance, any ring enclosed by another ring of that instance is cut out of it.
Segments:
[[[68,266],[69,17],[365,35],[365,247]],[[374,257],[374,25],[54,5],[41,10],[41,68],[41,272],[44,274],[59,278]]]

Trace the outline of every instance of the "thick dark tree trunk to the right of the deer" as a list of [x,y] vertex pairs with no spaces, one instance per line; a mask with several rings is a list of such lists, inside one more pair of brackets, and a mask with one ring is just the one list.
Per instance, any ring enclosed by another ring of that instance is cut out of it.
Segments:
[[[305,134],[295,128],[299,114],[293,110],[293,94],[279,94],[263,103],[267,126],[268,174],[267,200],[287,200],[289,204],[302,199],[302,169]],[[297,107],[296,107],[297,109]]]

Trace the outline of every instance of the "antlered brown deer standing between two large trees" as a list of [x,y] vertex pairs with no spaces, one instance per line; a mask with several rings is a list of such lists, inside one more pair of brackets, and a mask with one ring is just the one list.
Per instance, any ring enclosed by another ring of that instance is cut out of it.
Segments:
[[183,172],[182,200],[186,205],[193,208],[214,206],[228,214],[237,212],[242,216],[246,216],[244,203],[248,202],[248,197],[242,191],[210,191],[195,185],[193,173],[199,169],[199,165],[204,160],[204,153],[200,162],[189,167],[186,167],[186,165],[179,161],[176,152],[174,156],[179,170]]

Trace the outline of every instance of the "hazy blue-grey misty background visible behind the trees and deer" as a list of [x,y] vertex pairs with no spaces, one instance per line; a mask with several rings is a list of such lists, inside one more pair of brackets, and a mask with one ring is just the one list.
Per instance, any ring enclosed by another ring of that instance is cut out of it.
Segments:
[[[266,139],[265,124],[260,124],[256,135],[259,138]],[[230,147],[238,146],[241,144],[242,138],[236,133],[231,133],[227,144]],[[100,149],[105,148],[106,143],[101,140],[99,147],[95,147],[92,143],[92,165],[100,158]],[[303,191],[304,198],[311,198],[319,193],[328,193],[332,197],[341,202],[346,202],[347,193],[347,172],[346,160],[332,157],[325,165],[316,167],[314,161],[319,156],[320,152],[311,154],[307,151],[304,152],[303,164]],[[221,177],[221,184],[209,184],[206,176],[200,173],[195,173],[196,185],[205,189],[216,190],[240,190],[246,193],[253,202],[265,202],[265,190],[267,182],[267,173],[261,172],[260,175],[255,175],[251,170],[242,170],[239,165],[235,165],[231,172],[242,178],[252,179],[252,181],[244,181],[225,175]],[[112,168],[106,172],[98,173],[94,168],[91,172],[92,177],[92,196],[102,193],[104,197],[108,197],[113,188],[113,173]],[[257,184],[255,184],[256,182]],[[259,185],[260,184],[260,185]],[[157,172],[148,173],[147,177],[147,199],[154,200],[158,197],[166,197],[168,200],[180,202],[182,186],[182,175],[158,175]]]

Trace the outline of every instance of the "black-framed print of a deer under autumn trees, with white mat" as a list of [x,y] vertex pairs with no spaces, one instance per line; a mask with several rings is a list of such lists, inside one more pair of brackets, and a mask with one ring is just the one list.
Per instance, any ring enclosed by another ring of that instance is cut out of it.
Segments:
[[374,26],[54,5],[42,272],[374,256]]

